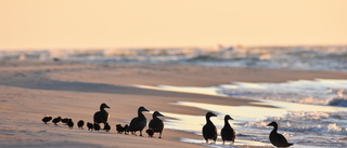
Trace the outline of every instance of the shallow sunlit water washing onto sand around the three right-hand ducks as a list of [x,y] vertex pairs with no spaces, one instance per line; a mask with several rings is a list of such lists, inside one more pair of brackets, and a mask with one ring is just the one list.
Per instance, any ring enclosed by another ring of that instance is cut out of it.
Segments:
[[[294,143],[295,147],[347,147],[347,108],[329,104],[335,98],[342,98],[343,103],[346,102],[346,93],[344,93],[346,92],[346,80],[317,79],[286,83],[237,82],[211,88],[168,85],[142,88],[219,96],[242,96],[260,100],[256,104],[274,106],[275,108],[220,106],[190,102],[175,103],[178,106],[196,107],[216,112],[218,117],[213,117],[211,121],[217,126],[218,133],[223,126],[224,115],[230,115],[234,119],[229,122],[236,131],[234,144],[236,147],[245,145],[271,146],[268,136],[272,127],[268,127],[267,124],[272,121],[279,123],[279,133],[282,133],[290,143]],[[264,93],[264,96],[277,97],[266,97],[265,99],[261,95],[258,95],[261,93]],[[287,97],[288,94],[291,99]],[[306,97],[311,97],[311,102],[301,102]],[[206,122],[204,116],[163,113],[174,118],[166,119],[167,129],[202,135],[201,130]],[[216,145],[204,144],[203,137],[202,139],[184,138],[181,140],[210,147],[224,147],[221,145],[220,138]]]

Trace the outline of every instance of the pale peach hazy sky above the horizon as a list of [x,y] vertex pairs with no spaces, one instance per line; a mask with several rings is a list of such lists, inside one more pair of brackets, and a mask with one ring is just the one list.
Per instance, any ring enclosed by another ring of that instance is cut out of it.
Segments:
[[0,50],[347,44],[347,0],[0,0]]

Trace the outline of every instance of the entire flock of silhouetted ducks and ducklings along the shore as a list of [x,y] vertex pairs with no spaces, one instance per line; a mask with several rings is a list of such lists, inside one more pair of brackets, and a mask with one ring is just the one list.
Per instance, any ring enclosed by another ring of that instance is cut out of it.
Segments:
[[[110,108],[106,104],[101,104],[100,106],[100,111],[97,111],[94,113],[93,120],[94,123],[87,123],[88,126],[88,131],[100,131],[101,126],[100,123],[104,124],[104,127],[102,130],[105,130],[106,132],[108,132],[111,130],[111,125],[107,122],[108,119],[108,112],[105,110],[105,108]],[[146,126],[146,118],[143,116],[143,111],[150,111],[147,109],[145,109],[144,107],[139,107],[138,109],[138,117],[133,118],[130,121],[130,124],[126,124],[125,126],[121,126],[120,124],[116,124],[116,131],[117,133],[125,133],[125,134],[129,134],[129,132],[132,135],[137,135],[137,131],[140,132],[140,136],[142,136],[142,131],[143,129]],[[145,131],[149,135],[149,137],[153,137],[154,133],[159,133],[159,137],[162,138],[162,133],[164,130],[164,122],[162,119],[159,119],[158,117],[164,117],[160,112],[158,111],[154,111],[153,116],[152,116],[152,120],[149,123],[149,129]],[[215,113],[208,111],[206,113],[206,124],[203,126],[203,137],[206,140],[206,143],[208,143],[208,139],[213,139],[214,144],[217,140],[217,127],[216,125],[210,121],[211,117],[217,117]],[[47,124],[47,122],[51,121],[52,117],[44,117],[42,119],[42,121],[44,122],[44,124]],[[234,144],[235,142],[235,131],[231,127],[229,120],[233,120],[229,115],[226,115],[224,117],[224,126],[221,129],[220,131],[220,135],[221,135],[221,139],[222,139],[222,144],[224,145],[226,142],[232,142],[232,144]],[[54,118],[52,120],[52,122],[57,125],[59,122],[63,122],[65,124],[68,125],[69,129],[74,127],[74,122],[72,119],[68,118],[64,118],[62,119],[61,117]],[[77,122],[77,125],[79,129],[83,129],[85,125],[85,121],[83,120],[79,120]],[[277,122],[271,122],[268,124],[268,126],[273,126],[273,130],[271,131],[269,138],[270,142],[273,146],[275,147],[290,147],[293,144],[288,143],[286,140],[286,138],[282,135],[278,133],[278,124]]]

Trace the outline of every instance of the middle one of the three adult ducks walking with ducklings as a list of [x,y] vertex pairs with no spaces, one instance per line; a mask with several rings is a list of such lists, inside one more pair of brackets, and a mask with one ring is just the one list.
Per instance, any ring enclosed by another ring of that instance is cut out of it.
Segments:
[[130,121],[130,125],[127,130],[128,132],[131,132],[132,134],[136,134],[137,131],[140,131],[140,136],[142,136],[142,130],[147,124],[147,121],[146,121],[145,117],[143,116],[142,111],[150,111],[150,110],[147,110],[143,106],[141,106],[138,109],[138,117],[133,118]]

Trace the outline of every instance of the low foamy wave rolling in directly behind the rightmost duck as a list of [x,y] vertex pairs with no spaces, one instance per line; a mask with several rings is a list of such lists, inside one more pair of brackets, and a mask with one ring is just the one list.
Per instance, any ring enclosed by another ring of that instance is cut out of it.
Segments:
[[241,124],[252,129],[268,129],[268,123],[277,121],[279,130],[299,133],[337,134],[347,135],[345,122],[338,124],[334,121],[347,119],[347,112],[303,112],[293,111],[285,117],[271,117],[264,121],[246,122]]

